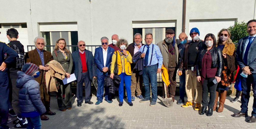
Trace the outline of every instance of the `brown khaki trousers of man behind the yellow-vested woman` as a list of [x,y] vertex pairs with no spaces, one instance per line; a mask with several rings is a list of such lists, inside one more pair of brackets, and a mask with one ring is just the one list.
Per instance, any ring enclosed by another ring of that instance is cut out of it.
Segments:
[[141,88],[143,84],[142,75],[139,75],[139,73],[132,72],[131,82],[132,96],[135,96],[135,91],[137,92],[137,96],[141,95]]

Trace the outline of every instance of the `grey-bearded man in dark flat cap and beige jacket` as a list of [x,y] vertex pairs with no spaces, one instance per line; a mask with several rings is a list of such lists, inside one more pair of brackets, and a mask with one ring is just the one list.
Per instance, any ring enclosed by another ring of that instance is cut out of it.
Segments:
[[[157,43],[160,51],[163,55],[163,65],[168,70],[170,84],[166,88],[167,98],[172,97],[174,102],[175,90],[176,90],[176,74],[178,70],[178,57],[179,39],[175,39],[173,29],[167,29],[165,31],[165,39]],[[164,88],[164,87],[163,87]]]

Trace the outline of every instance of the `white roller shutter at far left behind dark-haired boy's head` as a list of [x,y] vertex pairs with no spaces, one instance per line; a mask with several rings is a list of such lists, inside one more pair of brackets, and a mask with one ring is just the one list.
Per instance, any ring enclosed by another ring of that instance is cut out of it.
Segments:
[[[10,28],[0,28],[0,41],[5,42],[6,44],[8,44],[8,39],[6,37],[6,30],[10,29]],[[24,51],[27,51],[27,45],[28,44],[28,29],[27,28],[15,28],[18,33],[19,33],[19,38],[17,39],[18,41],[20,41],[20,43],[24,46]]]

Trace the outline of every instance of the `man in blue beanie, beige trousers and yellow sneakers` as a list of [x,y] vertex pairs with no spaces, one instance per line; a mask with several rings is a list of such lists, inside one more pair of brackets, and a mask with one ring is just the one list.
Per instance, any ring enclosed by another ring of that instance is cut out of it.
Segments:
[[[197,28],[192,28],[189,33],[192,40],[185,45],[183,57],[180,59],[178,74],[182,74],[182,70],[185,69],[186,77],[186,94],[187,102],[182,107],[195,106],[195,111],[201,109],[202,101],[202,84],[196,79],[196,63],[198,53],[205,47],[202,40],[199,39],[200,32]],[[195,95],[196,91],[196,95]],[[195,99],[194,99],[195,95]],[[196,105],[194,104],[196,102]]]

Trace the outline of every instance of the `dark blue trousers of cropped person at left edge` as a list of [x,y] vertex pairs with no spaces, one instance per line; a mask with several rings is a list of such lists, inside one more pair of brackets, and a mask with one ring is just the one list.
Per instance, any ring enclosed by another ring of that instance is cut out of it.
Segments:
[[7,125],[9,116],[9,80],[7,71],[0,70],[0,125]]

